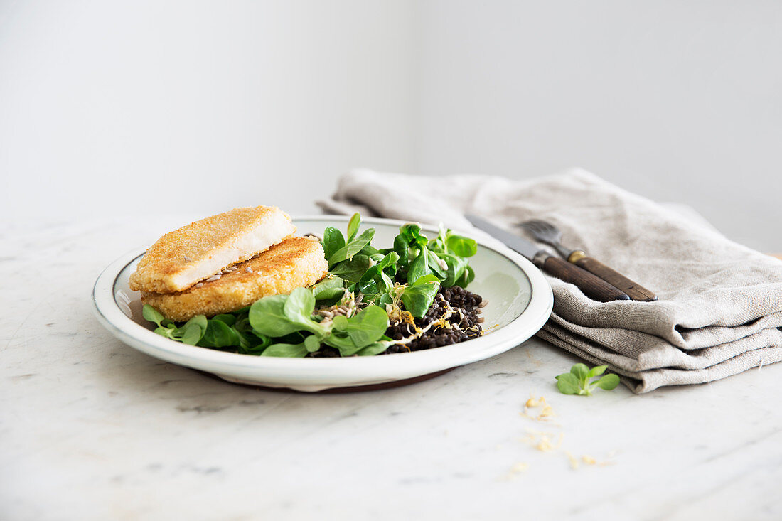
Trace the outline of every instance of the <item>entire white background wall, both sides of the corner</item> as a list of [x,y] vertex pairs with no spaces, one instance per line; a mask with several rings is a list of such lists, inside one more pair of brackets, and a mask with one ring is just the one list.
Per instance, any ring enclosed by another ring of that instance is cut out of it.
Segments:
[[0,217],[582,166],[782,250],[780,2],[3,2]]

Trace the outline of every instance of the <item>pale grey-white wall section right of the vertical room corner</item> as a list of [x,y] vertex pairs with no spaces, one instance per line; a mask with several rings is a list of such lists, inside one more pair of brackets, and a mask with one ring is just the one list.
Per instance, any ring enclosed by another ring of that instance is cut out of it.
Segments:
[[427,2],[420,171],[581,166],[782,251],[782,2]]

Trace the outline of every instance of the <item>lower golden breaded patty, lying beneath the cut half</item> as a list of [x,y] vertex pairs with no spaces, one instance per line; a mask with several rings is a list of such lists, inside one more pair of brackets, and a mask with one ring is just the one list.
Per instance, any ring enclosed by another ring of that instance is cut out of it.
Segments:
[[267,295],[312,286],[328,275],[321,243],[305,237],[289,237],[232,268],[234,271],[180,293],[142,292],[142,303],[180,322],[196,314],[210,317],[236,311]]

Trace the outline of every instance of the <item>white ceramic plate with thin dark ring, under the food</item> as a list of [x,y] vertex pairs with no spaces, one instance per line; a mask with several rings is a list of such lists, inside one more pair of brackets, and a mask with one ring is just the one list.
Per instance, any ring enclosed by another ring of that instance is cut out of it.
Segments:
[[[348,217],[317,216],[294,218],[298,234],[321,236],[324,228],[345,230]],[[388,247],[404,221],[364,219],[362,229],[376,228],[372,244]],[[423,226],[429,237],[436,228]],[[350,358],[272,358],[226,353],[206,347],[193,347],[168,340],[152,332],[142,318],[140,294],[127,286],[144,249],[120,257],[95,281],[92,297],[95,314],[119,340],[152,357],[213,373],[235,383],[267,387],[287,387],[314,392],[333,388],[373,386],[432,373],[503,353],[533,336],[551,314],[554,298],[543,274],[535,266],[499,243],[477,239],[478,253],[470,259],[475,281],[468,289],[488,304],[483,308],[486,335],[451,346]]]

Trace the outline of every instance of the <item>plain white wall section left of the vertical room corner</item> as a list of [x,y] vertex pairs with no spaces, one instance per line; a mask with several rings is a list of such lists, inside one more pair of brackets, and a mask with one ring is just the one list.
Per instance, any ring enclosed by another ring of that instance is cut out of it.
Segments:
[[[0,0],[2,2],[2,0]],[[405,2],[6,2],[3,217],[314,210],[407,170]]]

